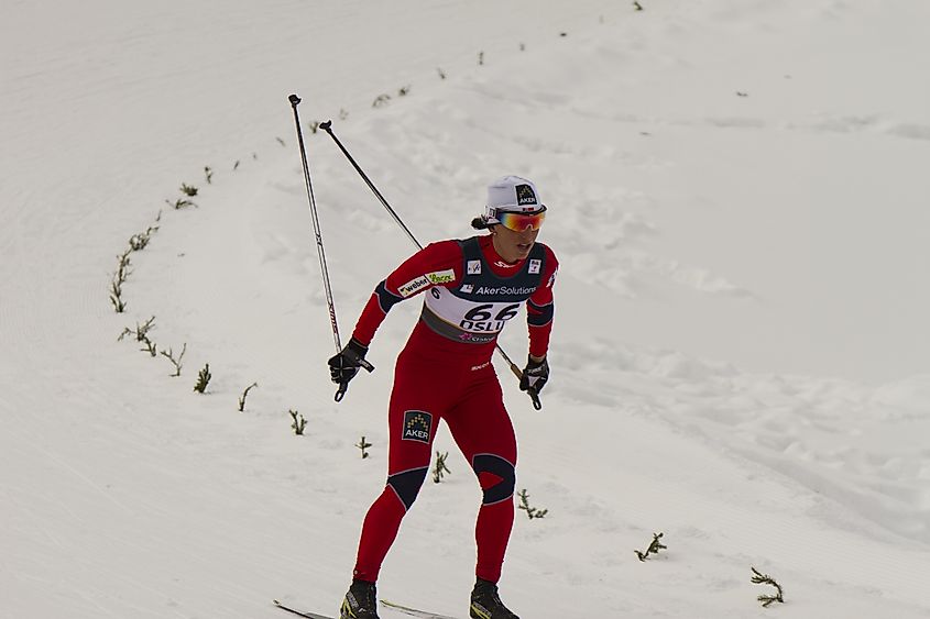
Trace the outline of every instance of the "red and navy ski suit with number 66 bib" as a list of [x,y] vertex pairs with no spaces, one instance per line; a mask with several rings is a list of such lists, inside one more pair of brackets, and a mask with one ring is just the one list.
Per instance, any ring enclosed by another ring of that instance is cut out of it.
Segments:
[[497,333],[526,303],[529,353],[546,355],[558,262],[536,243],[506,264],[491,236],[433,243],[378,285],[353,336],[368,346],[391,308],[426,291],[420,320],[397,356],[389,407],[387,485],[362,526],[354,577],[375,582],[423,485],[439,420],[484,491],[475,524],[477,576],[501,576],[514,519],[516,439],[491,355]]

